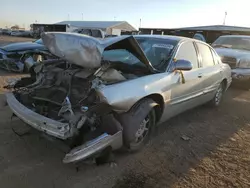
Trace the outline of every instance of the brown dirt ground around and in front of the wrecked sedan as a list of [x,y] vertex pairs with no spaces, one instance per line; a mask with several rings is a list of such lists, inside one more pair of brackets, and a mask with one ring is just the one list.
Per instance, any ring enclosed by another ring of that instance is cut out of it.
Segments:
[[[1,85],[7,76],[0,72]],[[0,101],[0,187],[250,187],[250,91],[230,88],[220,108],[160,125],[141,152],[116,153],[116,167],[84,163],[79,171],[36,134],[17,136],[11,127],[21,122],[10,121],[3,94]]]

